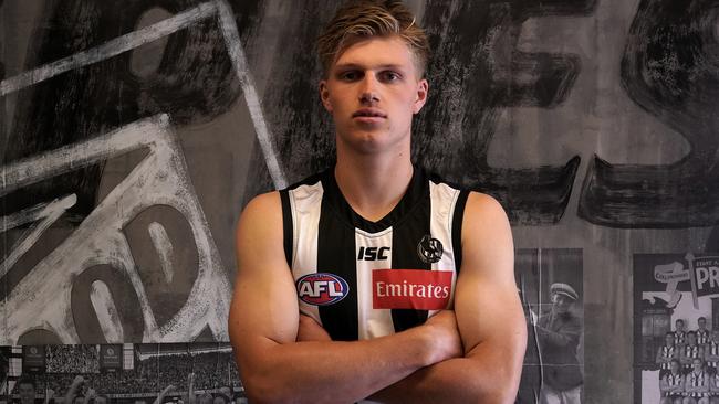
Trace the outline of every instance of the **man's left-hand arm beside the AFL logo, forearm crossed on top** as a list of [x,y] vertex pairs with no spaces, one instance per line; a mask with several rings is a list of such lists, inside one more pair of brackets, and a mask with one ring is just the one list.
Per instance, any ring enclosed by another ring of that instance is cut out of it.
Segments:
[[356,402],[419,368],[461,354],[447,317],[368,341],[296,342],[300,313],[282,240],[279,194],[256,198],[237,230],[229,318],[242,384],[253,403]]

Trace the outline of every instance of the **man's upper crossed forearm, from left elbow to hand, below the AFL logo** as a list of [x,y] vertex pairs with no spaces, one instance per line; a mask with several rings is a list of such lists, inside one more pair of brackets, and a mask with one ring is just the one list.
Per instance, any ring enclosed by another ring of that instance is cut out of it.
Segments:
[[[425,328],[365,341],[277,343],[267,340],[241,369],[252,402],[351,403],[447,358]],[[458,350],[459,353],[459,350]]]

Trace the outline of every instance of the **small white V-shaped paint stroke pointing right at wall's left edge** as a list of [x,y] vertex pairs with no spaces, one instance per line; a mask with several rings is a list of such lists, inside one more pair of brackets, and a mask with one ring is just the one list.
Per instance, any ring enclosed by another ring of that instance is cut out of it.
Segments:
[[75,203],[77,203],[77,195],[73,193],[65,198],[56,199],[50,203],[28,208],[18,213],[2,217],[2,232],[27,223],[39,221],[40,219],[42,219],[42,221],[33,228],[25,231],[18,243],[12,246],[12,252],[2,262],[2,265],[0,265],[0,278],[6,276],[8,270],[18,263],[18,259],[20,259],[28,249],[35,245],[40,236],[42,236],[42,234],[53,223],[55,223],[55,221],[58,221],[66,210],[74,206]]

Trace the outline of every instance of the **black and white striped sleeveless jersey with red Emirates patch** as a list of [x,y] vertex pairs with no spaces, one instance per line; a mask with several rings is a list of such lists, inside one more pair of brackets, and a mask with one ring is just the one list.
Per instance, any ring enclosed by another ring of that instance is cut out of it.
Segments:
[[397,205],[371,222],[344,199],[333,169],[280,191],[300,310],[333,340],[354,341],[451,307],[468,195],[415,167]]

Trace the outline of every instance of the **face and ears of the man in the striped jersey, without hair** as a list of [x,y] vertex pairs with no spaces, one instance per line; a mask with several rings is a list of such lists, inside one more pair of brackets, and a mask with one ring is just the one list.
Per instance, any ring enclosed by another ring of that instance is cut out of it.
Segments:
[[425,105],[427,86],[400,38],[350,45],[320,83],[322,104],[334,118],[337,152],[408,150],[411,117]]

